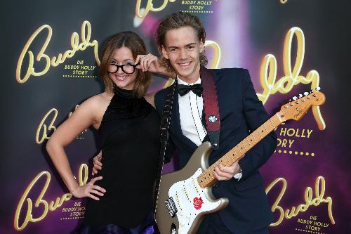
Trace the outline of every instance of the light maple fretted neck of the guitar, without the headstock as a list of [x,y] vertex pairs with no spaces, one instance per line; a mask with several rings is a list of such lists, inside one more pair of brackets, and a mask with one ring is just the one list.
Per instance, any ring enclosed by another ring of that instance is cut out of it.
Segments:
[[249,136],[244,138],[241,142],[239,142],[232,150],[228,151],[223,157],[220,157],[215,163],[208,167],[205,171],[203,171],[198,177],[197,181],[201,188],[207,188],[216,183],[217,179],[214,176],[215,168],[218,164],[223,164],[225,167],[230,167],[234,162],[237,162],[244,157],[246,152],[248,152],[253,146],[255,146],[258,142],[260,142],[265,136],[270,134],[271,131],[274,131],[279,124],[284,122],[279,115],[280,112],[277,112],[273,117],[268,119],[264,124],[258,127],[255,131],[253,131]]

